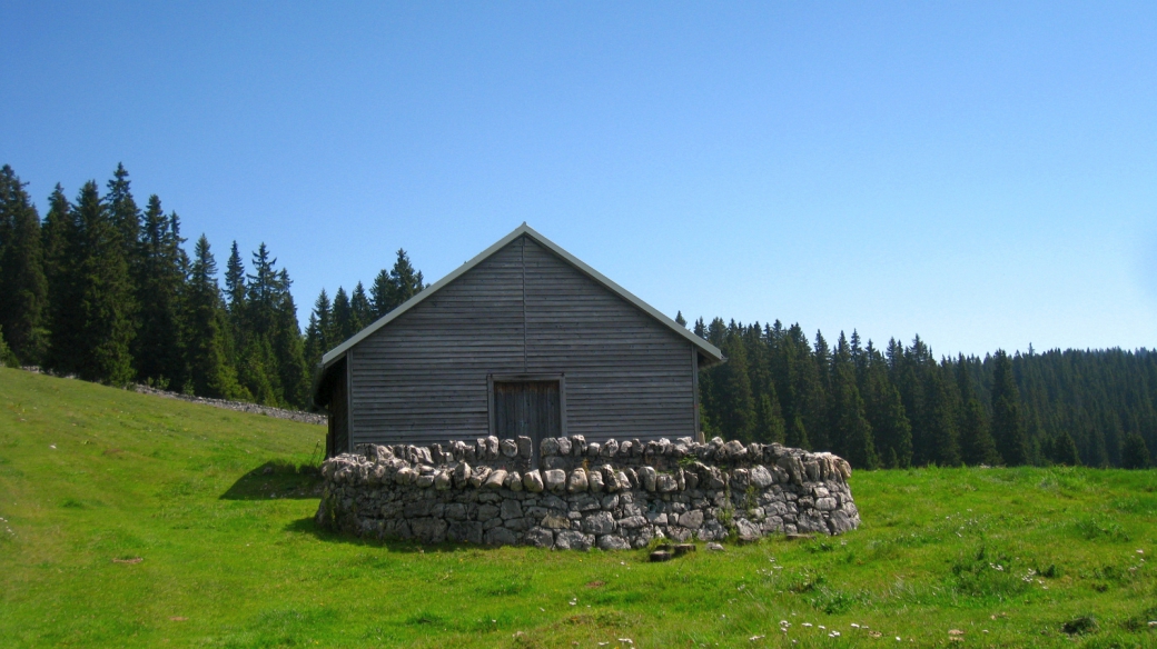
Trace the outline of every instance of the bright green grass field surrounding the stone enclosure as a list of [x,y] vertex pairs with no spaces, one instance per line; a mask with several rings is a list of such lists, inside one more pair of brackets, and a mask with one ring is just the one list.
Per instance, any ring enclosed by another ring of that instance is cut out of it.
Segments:
[[1157,646],[1155,471],[858,472],[857,531],[648,564],[320,534],[322,439],[0,368],[0,646]]

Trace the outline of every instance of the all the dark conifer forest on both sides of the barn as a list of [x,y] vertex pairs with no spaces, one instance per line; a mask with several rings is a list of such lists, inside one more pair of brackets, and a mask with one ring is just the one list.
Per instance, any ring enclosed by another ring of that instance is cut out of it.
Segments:
[[[236,241],[223,270],[176,212],[143,209],[127,171],[40,217],[0,170],[0,363],[113,386],[308,408],[322,355],[423,284],[404,249],[369,289],[323,290],[301,330],[286,268]],[[683,314],[676,320],[686,326]],[[830,342],[780,321],[699,319],[727,363],[700,372],[706,437],[831,450],[855,468],[1064,464],[1144,468],[1157,448],[1157,353],[996,350],[937,359],[919,336]]]

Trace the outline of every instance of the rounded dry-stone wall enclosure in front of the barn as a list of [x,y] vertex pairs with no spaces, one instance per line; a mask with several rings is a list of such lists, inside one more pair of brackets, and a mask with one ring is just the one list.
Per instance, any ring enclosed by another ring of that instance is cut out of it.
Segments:
[[359,450],[322,468],[323,527],[422,543],[626,550],[860,524],[846,461],[778,443],[548,438],[540,470],[530,438]]

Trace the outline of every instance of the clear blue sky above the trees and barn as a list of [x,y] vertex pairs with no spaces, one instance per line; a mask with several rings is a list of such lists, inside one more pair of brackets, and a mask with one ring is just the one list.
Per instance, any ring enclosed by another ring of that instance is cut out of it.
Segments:
[[661,311],[1157,346],[1157,3],[0,0],[0,164],[118,162],[308,319],[523,221]]

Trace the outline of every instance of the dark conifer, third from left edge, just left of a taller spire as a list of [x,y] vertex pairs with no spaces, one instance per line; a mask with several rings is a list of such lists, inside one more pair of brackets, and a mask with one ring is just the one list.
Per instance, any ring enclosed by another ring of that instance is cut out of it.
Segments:
[[82,240],[78,273],[82,344],[76,373],[89,381],[125,385],[133,378],[128,349],[133,291],[121,233],[96,182],[81,187],[74,210]]

